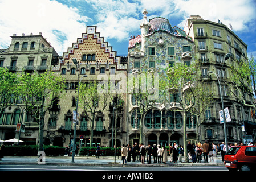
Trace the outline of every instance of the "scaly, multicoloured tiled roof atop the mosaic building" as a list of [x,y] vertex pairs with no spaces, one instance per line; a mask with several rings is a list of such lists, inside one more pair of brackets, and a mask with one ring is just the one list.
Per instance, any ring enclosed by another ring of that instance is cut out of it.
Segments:
[[[165,31],[168,34],[171,34],[173,36],[183,37],[193,42],[193,39],[188,37],[184,30],[181,30],[181,28],[178,28],[177,26],[174,26],[174,27],[170,26],[169,20],[166,18],[161,18],[161,17],[152,18],[149,20],[149,23],[151,24],[151,28],[149,29],[149,34],[147,36],[152,35],[157,31]],[[141,35],[136,36],[136,38],[131,37],[131,39],[129,40],[129,48],[135,46],[136,43],[140,43],[140,42],[141,42]]]

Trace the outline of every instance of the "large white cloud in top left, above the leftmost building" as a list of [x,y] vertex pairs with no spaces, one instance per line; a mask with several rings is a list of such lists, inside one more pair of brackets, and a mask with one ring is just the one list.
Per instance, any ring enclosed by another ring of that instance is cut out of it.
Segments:
[[32,32],[38,35],[42,32],[44,38],[62,55],[86,31],[85,22],[89,18],[79,15],[77,11],[76,8],[50,0],[0,1],[0,48],[10,45],[10,36],[14,33],[30,35]]

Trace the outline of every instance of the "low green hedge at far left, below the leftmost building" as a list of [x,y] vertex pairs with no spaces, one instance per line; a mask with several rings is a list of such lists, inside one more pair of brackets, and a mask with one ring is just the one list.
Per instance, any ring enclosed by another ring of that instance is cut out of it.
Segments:
[[[43,146],[46,156],[63,156],[65,153],[64,147],[58,146]],[[6,146],[7,156],[37,156],[38,146]]]

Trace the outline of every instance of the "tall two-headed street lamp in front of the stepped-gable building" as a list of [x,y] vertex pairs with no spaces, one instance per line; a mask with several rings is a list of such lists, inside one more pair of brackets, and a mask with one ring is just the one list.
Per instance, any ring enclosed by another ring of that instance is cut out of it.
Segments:
[[[76,68],[78,68],[78,61],[76,59],[72,59],[73,63],[76,65]],[[83,75],[83,77],[87,77],[87,75]],[[82,78],[80,79],[80,82],[78,84],[78,98],[79,98],[79,87],[82,81]],[[78,73],[78,81],[79,81],[79,73]],[[73,148],[72,148],[72,160],[71,162],[75,162],[75,151],[76,151],[76,123],[78,122],[78,99],[76,100],[76,121],[74,126],[74,138],[73,138]]]

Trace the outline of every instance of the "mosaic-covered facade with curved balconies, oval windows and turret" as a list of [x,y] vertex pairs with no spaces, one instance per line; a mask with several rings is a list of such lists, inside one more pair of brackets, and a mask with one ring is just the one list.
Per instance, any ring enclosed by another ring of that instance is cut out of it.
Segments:
[[[153,18],[147,21],[147,11],[140,24],[141,35],[129,40],[128,73],[133,74],[145,70],[160,74],[159,79],[166,76],[166,70],[177,63],[190,65],[194,61],[194,42],[178,27],[172,27],[165,18]],[[139,27],[138,27],[139,28]],[[143,127],[145,144],[165,144],[177,142],[182,144],[184,113],[180,104],[172,102],[170,106],[162,100],[156,101],[152,109],[140,115],[136,99],[129,94],[128,142],[138,142],[140,139],[139,121]],[[136,119],[139,118],[139,119]],[[195,127],[188,128],[188,138],[196,139]]]

